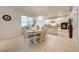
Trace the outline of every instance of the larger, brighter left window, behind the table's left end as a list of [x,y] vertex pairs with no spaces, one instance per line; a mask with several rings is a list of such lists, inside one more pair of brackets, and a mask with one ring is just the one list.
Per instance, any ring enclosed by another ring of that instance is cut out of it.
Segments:
[[21,26],[31,26],[33,18],[27,16],[21,16]]

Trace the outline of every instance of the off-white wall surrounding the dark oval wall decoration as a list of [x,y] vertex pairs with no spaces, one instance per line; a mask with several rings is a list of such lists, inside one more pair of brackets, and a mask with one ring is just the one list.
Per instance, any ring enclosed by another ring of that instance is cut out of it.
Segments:
[[[10,15],[11,20],[5,21],[3,15]],[[0,39],[20,35],[21,32],[21,13],[11,7],[0,7]]]

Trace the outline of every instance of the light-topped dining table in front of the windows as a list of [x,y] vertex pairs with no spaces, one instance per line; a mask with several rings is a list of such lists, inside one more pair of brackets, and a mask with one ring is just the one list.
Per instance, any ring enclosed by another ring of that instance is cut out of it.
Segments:
[[[30,39],[32,42],[34,42],[34,43],[37,43],[37,39],[39,38],[39,40],[40,40],[40,36],[41,36],[41,33],[42,33],[42,30],[41,29],[28,29],[28,30],[26,30],[27,32],[28,32],[28,36],[30,36],[28,39]],[[30,33],[30,35],[29,35],[29,33]]]

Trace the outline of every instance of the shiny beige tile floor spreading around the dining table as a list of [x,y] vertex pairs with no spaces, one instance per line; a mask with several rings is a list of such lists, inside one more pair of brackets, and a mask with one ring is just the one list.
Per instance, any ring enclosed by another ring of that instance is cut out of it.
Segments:
[[73,39],[66,35],[46,34],[46,39],[39,43],[24,40],[24,36],[0,40],[1,52],[79,52]]

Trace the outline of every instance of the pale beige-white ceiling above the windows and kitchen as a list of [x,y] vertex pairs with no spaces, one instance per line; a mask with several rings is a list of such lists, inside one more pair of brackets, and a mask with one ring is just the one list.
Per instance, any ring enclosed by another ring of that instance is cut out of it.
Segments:
[[70,13],[70,6],[15,6],[12,7],[24,12],[27,16],[64,16]]

